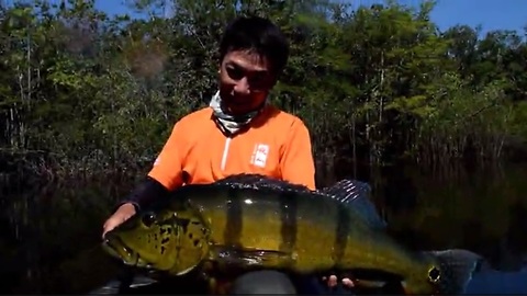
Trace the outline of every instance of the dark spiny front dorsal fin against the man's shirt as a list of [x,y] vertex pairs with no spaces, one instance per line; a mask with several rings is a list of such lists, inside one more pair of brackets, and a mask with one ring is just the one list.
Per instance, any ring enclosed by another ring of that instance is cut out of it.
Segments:
[[277,180],[256,173],[232,174],[224,179],[217,180],[213,184],[227,185],[237,189],[270,189],[281,191],[311,192],[311,190],[306,186],[292,184],[283,180]]

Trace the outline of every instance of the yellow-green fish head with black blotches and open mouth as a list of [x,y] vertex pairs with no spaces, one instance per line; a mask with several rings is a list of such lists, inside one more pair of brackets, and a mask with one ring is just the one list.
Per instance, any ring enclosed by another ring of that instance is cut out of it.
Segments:
[[141,212],[104,236],[103,248],[126,265],[183,274],[208,254],[209,228],[194,210]]

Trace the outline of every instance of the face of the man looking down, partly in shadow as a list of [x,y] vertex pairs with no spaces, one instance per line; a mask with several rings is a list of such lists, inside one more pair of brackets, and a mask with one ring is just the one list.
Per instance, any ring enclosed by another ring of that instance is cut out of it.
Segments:
[[233,115],[257,109],[274,81],[268,60],[253,52],[228,52],[220,67],[220,95]]

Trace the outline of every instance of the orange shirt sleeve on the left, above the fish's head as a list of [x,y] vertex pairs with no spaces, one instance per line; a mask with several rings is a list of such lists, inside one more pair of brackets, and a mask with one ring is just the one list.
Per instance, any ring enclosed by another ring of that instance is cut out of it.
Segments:
[[183,184],[182,168],[188,145],[181,125],[181,122],[176,123],[172,133],[148,172],[148,177],[161,183],[169,191]]

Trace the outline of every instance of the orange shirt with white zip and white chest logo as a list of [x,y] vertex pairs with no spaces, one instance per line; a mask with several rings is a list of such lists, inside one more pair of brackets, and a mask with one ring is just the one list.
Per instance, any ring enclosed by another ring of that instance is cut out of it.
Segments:
[[260,173],[314,190],[315,168],[304,123],[269,105],[249,129],[226,137],[214,123],[212,109],[201,109],[176,123],[148,175],[173,190],[236,173]]

